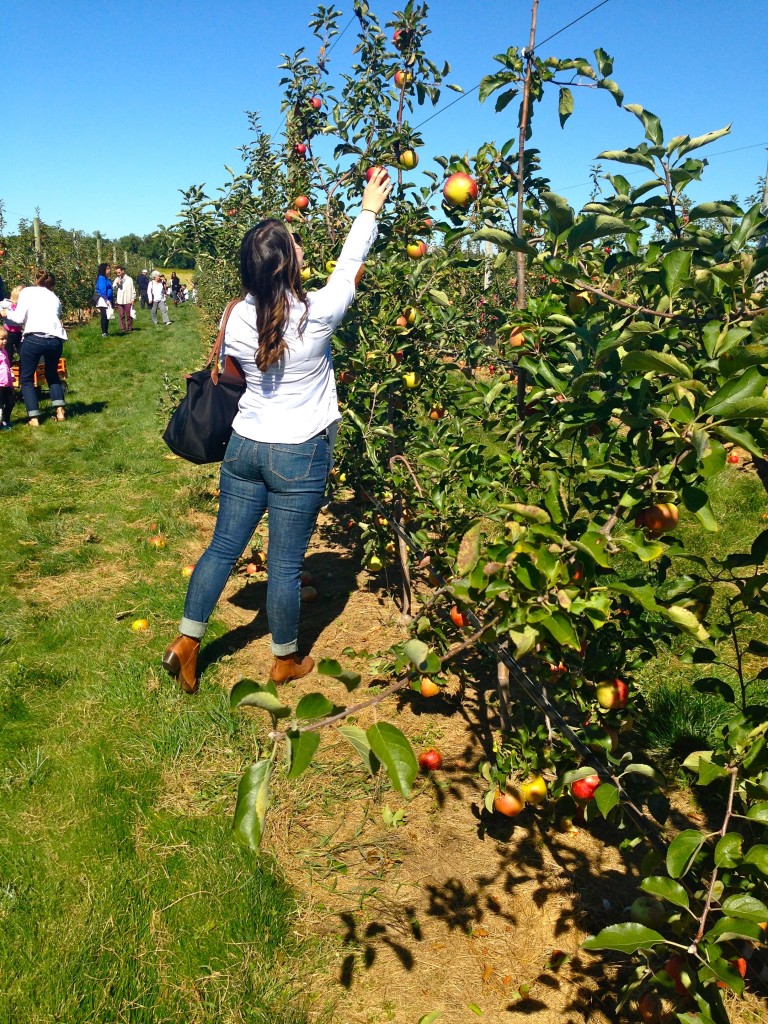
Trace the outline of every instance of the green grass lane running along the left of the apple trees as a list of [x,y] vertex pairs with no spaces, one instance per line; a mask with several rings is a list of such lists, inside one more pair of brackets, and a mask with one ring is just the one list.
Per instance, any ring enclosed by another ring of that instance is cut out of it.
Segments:
[[2,435],[2,1024],[317,1017],[295,896],[231,838],[251,727],[216,686],[190,700],[157,668],[199,544],[185,513],[215,478],[160,439],[164,378],[206,347],[196,309],[172,316],[140,312],[130,340],[73,331],[67,423],[44,403],[33,431],[17,408]]

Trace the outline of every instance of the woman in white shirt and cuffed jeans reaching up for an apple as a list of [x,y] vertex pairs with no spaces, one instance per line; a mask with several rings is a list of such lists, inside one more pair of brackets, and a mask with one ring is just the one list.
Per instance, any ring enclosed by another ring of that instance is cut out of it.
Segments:
[[267,511],[269,678],[283,683],[314,668],[311,657],[298,654],[299,595],[340,420],[331,336],[354,299],[355,274],[391,187],[387,172],[376,168],[328,285],[310,295],[301,286],[301,249],[282,221],[261,221],[243,239],[244,298],[229,315],[223,347],[243,368],[246,392],[221,465],[213,539],[189,580],[179,636],[163,657],[187,693],[198,688],[198,651],[209,616]]

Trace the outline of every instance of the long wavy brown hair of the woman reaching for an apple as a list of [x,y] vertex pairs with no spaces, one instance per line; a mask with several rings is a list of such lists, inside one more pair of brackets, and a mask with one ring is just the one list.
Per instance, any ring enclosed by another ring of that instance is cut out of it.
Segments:
[[252,295],[256,304],[256,366],[264,373],[288,351],[291,298],[304,303],[300,331],[309,314],[296,247],[280,220],[262,220],[246,233],[240,247],[240,279],[244,294]]

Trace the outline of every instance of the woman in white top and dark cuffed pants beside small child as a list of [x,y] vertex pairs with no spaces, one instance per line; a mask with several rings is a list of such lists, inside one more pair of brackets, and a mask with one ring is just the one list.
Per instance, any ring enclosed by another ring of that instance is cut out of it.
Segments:
[[58,360],[61,358],[67,332],[61,326],[61,302],[54,294],[55,279],[42,267],[35,271],[35,287],[25,288],[13,310],[13,323],[22,328],[22,349],[18,360],[18,378],[22,397],[27,407],[27,422],[31,427],[40,426],[35,371],[40,359],[45,364],[51,407],[59,422],[65,419],[63,387],[58,378]]

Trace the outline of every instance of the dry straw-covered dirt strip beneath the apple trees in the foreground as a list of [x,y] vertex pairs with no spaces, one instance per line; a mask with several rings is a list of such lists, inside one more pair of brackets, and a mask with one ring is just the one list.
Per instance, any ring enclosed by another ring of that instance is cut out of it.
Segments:
[[[322,517],[307,555],[319,597],[304,606],[301,641],[315,658],[349,664],[345,648],[383,651],[402,630],[385,581],[360,569],[341,526],[348,513],[337,513]],[[201,518],[205,542],[211,524]],[[265,595],[265,577],[240,575],[219,606],[229,631],[204,648],[203,667],[217,663],[227,689],[268,671]],[[375,665],[357,668],[365,687]],[[327,679],[295,685],[348,702]],[[551,833],[534,812],[519,824],[480,813],[477,764],[489,736],[481,687],[463,706],[451,692],[425,700],[409,691],[381,715],[417,748],[442,752],[443,769],[420,778],[410,801],[329,739],[298,782],[276,787],[267,849],[302,894],[299,927],[325,951],[323,975],[302,988],[336,1000],[334,1020],[345,1024],[415,1024],[431,1011],[444,1024],[478,1012],[492,1021],[610,1020],[603,970],[578,949],[634,898],[615,850],[589,833]],[[385,808],[399,820],[385,824]]]

